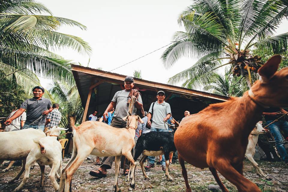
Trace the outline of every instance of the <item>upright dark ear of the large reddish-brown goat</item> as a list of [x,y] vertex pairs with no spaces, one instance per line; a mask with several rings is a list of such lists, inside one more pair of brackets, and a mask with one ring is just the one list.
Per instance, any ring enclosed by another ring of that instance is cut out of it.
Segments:
[[259,68],[258,73],[262,80],[270,79],[274,73],[277,71],[279,64],[281,62],[280,55],[274,55],[271,57],[262,67]]

